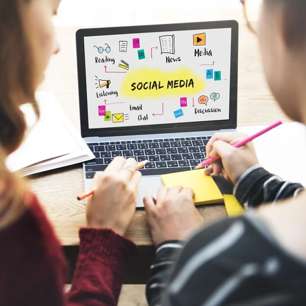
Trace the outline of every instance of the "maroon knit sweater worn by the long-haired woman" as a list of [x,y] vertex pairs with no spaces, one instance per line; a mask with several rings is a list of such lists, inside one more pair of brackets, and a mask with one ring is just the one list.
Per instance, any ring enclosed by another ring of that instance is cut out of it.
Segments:
[[112,230],[82,228],[71,290],[66,263],[36,196],[30,209],[0,231],[0,305],[116,305],[126,261],[136,246]]

